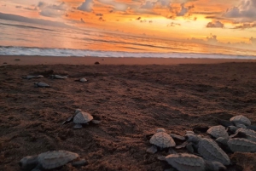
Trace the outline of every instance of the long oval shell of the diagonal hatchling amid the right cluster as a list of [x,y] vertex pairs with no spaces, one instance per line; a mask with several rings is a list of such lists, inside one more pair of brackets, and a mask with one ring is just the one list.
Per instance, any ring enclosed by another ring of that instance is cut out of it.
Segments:
[[230,164],[230,157],[211,139],[202,138],[198,143],[198,153],[207,161],[221,162],[224,165]]

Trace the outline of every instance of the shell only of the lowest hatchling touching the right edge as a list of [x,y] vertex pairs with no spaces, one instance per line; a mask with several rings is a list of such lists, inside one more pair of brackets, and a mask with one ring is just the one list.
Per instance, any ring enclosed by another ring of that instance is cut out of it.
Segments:
[[234,138],[228,141],[228,146],[233,152],[256,152],[256,142],[252,140]]

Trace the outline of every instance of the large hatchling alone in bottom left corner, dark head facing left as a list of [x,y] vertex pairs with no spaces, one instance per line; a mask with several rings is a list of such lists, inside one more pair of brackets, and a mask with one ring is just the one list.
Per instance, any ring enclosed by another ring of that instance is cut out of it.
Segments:
[[24,170],[40,171],[59,168],[77,157],[79,157],[79,154],[70,151],[47,151],[36,156],[24,157],[19,164]]

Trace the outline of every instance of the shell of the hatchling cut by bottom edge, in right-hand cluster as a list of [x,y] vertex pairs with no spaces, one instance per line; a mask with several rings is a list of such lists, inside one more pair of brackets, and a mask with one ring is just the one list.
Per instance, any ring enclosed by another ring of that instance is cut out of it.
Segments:
[[166,162],[178,171],[204,171],[206,162],[193,154],[179,153],[166,156]]

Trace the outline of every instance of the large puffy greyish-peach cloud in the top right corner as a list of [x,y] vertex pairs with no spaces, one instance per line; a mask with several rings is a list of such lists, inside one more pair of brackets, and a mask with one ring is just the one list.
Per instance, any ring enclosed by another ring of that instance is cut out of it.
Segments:
[[256,19],[256,0],[241,0],[237,7],[227,9],[224,17],[235,18],[241,21]]

